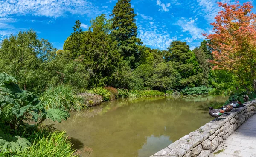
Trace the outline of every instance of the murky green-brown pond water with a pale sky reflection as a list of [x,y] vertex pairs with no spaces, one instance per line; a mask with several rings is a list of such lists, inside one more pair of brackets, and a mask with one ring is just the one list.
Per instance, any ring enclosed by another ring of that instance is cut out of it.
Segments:
[[[211,121],[208,107],[225,96],[138,98],[72,112],[62,123],[82,157],[148,157]],[[93,151],[83,152],[84,146]]]

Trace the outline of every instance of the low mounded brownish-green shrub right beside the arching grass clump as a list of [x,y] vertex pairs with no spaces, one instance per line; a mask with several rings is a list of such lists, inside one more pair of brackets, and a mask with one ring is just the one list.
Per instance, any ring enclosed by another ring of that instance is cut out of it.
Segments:
[[102,95],[97,95],[94,93],[80,93],[79,96],[83,98],[83,102],[88,107],[99,105],[104,101]]

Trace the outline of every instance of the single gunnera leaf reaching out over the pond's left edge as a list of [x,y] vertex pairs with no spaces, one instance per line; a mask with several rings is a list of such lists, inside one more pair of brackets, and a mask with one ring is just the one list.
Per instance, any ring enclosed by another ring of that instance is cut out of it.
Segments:
[[62,119],[67,120],[70,115],[63,109],[48,109],[46,111],[46,117],[52,119],[52,121],[57,120],[59,123],[61,123]]

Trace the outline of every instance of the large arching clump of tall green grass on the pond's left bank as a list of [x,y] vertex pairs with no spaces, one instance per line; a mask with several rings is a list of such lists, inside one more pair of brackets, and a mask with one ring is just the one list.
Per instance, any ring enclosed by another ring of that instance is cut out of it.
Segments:
[[46,109],[81,110],[86,108],[80,102],[81,98],[75,93],[72,86],[60,84],[47,87],[44,93],[40,94],[40,99]]

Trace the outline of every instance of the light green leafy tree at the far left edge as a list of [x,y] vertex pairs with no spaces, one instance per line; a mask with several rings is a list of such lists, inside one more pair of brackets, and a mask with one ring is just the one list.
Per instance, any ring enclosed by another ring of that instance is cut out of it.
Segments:
[[15,76],[24,90],[44,89],[52,77],[42,75],[42,70],[49,73],[42,65],[55,52],[50,42],[38,39],[36,32],[29,30],[4,39],[0,47],[0,72]]

